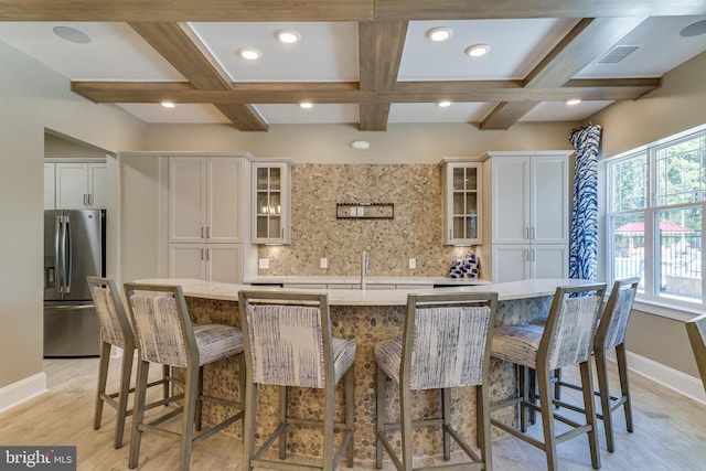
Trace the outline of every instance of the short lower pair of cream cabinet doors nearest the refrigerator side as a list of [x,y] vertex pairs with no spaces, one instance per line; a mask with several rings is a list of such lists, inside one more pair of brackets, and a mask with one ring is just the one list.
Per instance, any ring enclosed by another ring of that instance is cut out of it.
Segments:
[[170,244],[169,277],[240,285],[243,244]]

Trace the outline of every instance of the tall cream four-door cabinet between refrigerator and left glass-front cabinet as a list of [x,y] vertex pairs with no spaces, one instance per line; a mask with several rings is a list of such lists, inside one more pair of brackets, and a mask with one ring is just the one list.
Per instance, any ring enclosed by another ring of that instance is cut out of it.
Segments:
[[246,159],[169,158],[169,276],[243,280]]

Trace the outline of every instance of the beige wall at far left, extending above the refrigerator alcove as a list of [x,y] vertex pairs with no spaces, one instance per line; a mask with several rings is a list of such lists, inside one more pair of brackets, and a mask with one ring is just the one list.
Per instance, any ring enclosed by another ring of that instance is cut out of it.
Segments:
[[143,147],[145,129],[117,107],[74,95],[66,78],[2,42],[0,64],[2,409],[11,385],[42,377],[45,128],[113,151]]

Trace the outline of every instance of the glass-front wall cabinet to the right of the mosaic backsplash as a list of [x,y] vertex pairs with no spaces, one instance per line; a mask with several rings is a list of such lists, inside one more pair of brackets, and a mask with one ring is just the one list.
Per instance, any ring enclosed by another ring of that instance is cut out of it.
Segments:
[[482,163],[478,159],[447,158],[443,180],[443,234],[446,245],[479,245],[482,239]]

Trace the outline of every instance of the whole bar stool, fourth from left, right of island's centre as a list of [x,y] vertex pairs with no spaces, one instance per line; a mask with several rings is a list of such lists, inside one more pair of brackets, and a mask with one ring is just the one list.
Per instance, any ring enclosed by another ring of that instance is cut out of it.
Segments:
[[[488,368],[498,293],[408,295],[402,340],[375,345],[377,363],[376,467],[383,465],[383,447],[398,471],[413,467],[413,427],[440,426],[443,459],[451,459],[450,440],[471,462],[441,464],[432,469],[492,469],[490,394]],[[399,387],[399,422],[385,422],[385,384],[391,378]],[[477,435],[480,457],[451,426],[451,388],[477,386]],[[411,392],[441,390],[441,418],[411,419]],[[402,430],[402,460],[387,439],[391,430]],[[429,468],[424,468],[429,469]]]

